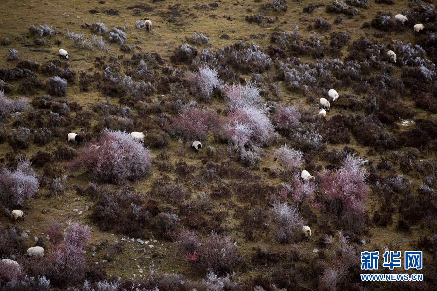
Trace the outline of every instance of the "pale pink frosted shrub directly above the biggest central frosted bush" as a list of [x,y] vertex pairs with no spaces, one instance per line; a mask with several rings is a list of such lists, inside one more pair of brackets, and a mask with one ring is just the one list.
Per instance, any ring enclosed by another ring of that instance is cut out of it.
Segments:
[[226,86],[224,90],[225,99],[228,102],[228,108],[232,111],[236,108],[260,107],[261,96],[256,84],[247,83],[245,86],[232,85]]

